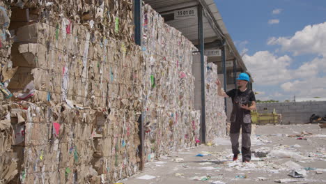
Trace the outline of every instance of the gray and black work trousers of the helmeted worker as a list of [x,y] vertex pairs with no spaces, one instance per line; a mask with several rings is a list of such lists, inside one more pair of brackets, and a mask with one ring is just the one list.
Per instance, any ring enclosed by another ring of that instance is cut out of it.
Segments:
[[[239,117],[239,116],[238,116]],[[241,143],[241,153],[242,162],[251,160],[251,123],[244,123],[243,118],[235,118],[235,121],[231,122],[230,128],[230,138],[232,144],[232,152],[234,155],[238,155],[239,151],[239,135],[240,128],[242,129],[242,143]]]

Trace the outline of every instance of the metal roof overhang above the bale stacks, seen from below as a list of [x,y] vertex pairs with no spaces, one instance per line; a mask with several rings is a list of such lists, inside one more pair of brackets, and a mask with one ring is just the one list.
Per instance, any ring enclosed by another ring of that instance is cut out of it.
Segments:
[[[203,29],[205,45],[206,43],[213,43],[217,40],[226,40],[226,60],[230,61],[236,58],[238,61],[237,70],[247,71],[247,68],[242,61],[242,57],[238,53],[231,36],[228,34],[222,16],[220,15],[214,0],[144,0],[144,2],[150,4],[150,6],[162,15],[162,17],[173,14],[175,10],[194,8],[201,4],[204,10]],[[166,19],[166,24],[181,31],[185,37],[194,43],[194,45],[198,44],[197,17],[184,20]],[[214,49],[215,47],[206,48]],[[221,62],[222,58],[220,56],[212,57],[208,61],[217,63]]]

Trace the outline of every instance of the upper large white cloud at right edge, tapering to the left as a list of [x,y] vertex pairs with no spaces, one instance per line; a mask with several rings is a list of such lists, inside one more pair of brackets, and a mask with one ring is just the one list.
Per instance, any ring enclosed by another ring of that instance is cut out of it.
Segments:
[[326,56],[326,22],[309,25],[302,31],[297,31],[294,36],[272,37],[267,40],[268,45],[281,45],[282,51],[300,54],[318,54]]

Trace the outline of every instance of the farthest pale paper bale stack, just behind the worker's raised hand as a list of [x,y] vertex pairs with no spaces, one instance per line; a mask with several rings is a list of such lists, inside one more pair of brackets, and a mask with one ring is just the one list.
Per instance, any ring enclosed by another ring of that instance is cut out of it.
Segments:
[[226,135],[226,114],[224,98],[217,95],[217,65],[207,63],[205,67],[205,111],[206,141],[212,143],[216,137]]

